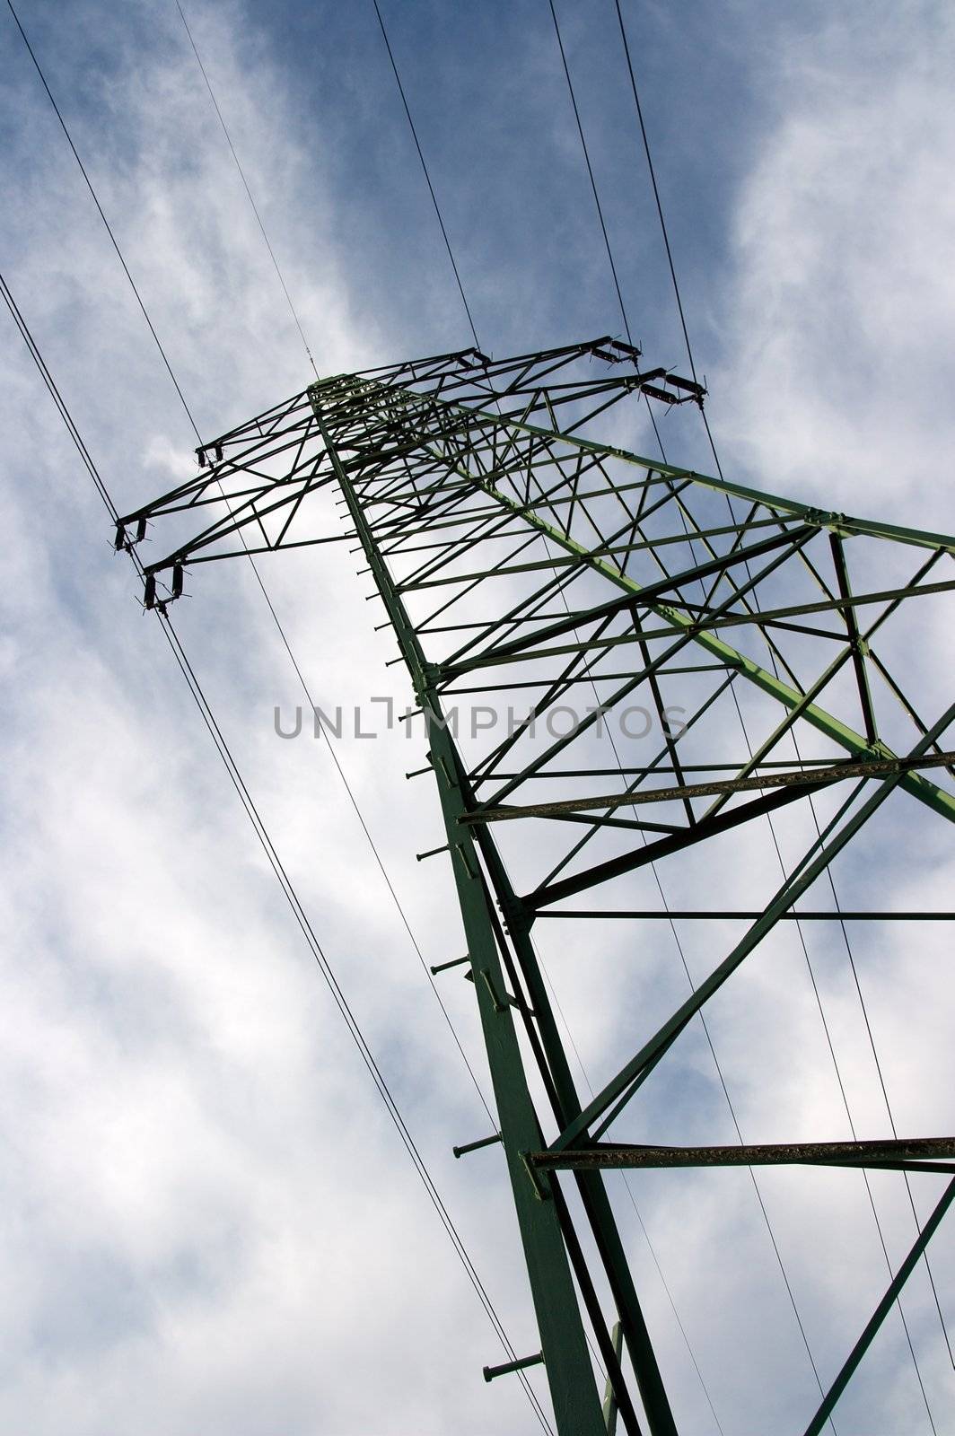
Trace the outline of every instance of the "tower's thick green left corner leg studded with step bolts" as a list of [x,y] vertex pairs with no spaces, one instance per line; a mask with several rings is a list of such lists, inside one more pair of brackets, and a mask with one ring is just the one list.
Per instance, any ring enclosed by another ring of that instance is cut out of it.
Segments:
[[431,682],[431,665],[425,662],[415,629],[378,551],[348,471],[330,439],[317,396],[313,399],[313,406],[355,531],[362,543],[378,592],[385,602],[402,658],[411,673],[415,695],[431,729],[431,764],[448,834],[461,920],[494,1084],[501,1142],[514,1192],[514,1206],[557,1429],[560,1436],[602,1436],[605,1425],[600,1397],[560,1222],[547,1185],[539,1185],[534,1180],[523,1159],[524,1153],[537,1147],[540,1127],[527,1087],[511,1007],[507,1002],[507,988],[481,882],[477,847],[471,831],[458,824],[458,819],[465,813],[465,806],[455,780],[454,744],[442,722],[441,704]]

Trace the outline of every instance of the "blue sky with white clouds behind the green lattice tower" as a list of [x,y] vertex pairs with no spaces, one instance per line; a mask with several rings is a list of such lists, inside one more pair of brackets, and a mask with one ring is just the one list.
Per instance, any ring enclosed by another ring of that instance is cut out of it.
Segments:
[[[371,0],[184,9],[319,372],[470,343]],[[620,335],[546,0],[381,9],[483,348]],[[622,9],[724,472],[951,531],[951,9]],[[302,389],[309,360],[172,0],[17,10],[200,432]],[[679,369],[613,4],[563,0],[557,13],[633,337]],[[131,510],[191,475],[195,438],[9,11],[0,80],[3,273]],[[0,365],[0,1426],[539,1429],[517,1381],[481,1379],[503,1358],[497,1338],[6,320]],[[629,424],[628,444],[648,451],[645,421]],[[697,425],[674,418],[662,432],[675,462],[708,468]],[[368,580],[337,547],[273,557],[263,574],[316,701],[348,711],[404,689],[383,666],[386,635],[371,632]],[[276,705],[290,714],[300,691],[254,576],[215,564],[188,589],[178,626],[238,765],[511,1343],[534,1350],[494,1149],[451,1155],[485,1134],[487,1114],[326,747],[274,732]],[[951,625],[932,610],[899,648],[933,717],[951,701]],[[392,732],[336,751],[437,964],[461,938],[442,860],[415,860],[441,841],[427,780],[404,777],[422,748]],[[859,905],[951,906],[951,846],[929,819],[895,804],[837,870],[840,889]],[[765,853],[748,862],[758,876]],[[676,896],[701,879],[679,875]],[[625,939],[599,955],[583,936],[562,941],[546,933],[541,948],[596,1084],[635,1050],[635,1014],[642,1032],[682,998],[682,979],[672,952],[635,974]],[[814,941],[853,1107],[882,1134],[844,964]],[[685,942],[705,972],[712,954]],[[712,1031],[747,1136],[839,1137],[819,1015],[786,942],[778,966],[714,1004]],[[862,933],[857,956],[899,1129],[951,1130],[942,929]],[[441,995],[487,1091],[472,994],[445,978]],[[731,1140],[721,1103],[691,1040],[649,1096],[646,1140],[666,1140],[663,1117],[681,1140]],[[936,1190],[923,1180],[922,1219]],[[800,1430],[813,1409],[747,1183],[742,1172],[646,1179],[642,1225],[626,1218],[679,1429],[699,1436]],[[771,1173],[763,1190],[831,1376],[885,1288],[865,1192],[852,1173]],[[898,1264],[912,1213],[893,1178],[873,1190]],[[951,1325],[951,1221],[932,1262]],[[905,1310],[941,1436],[955,1430],[955,1390],[922,1274]],[[898,1320],[836,1429],[931,1430]]]

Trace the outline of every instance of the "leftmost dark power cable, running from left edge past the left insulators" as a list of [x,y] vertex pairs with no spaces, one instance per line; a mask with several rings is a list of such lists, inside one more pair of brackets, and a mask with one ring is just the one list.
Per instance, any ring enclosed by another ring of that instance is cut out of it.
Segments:
[[[30,332],[30,329],[29,329],[29,326],[27,326],[27,323],[26,323],[26,320],[24,320],[24,317],[23,317],[23,314],[22,314],[22,312],[20,312],[20,309],[19,309],[19,306],[17,306],[17,303],[16,303],[16,300],[14,300],[10,289],[9,289],[9,286],[7,286],[7,283],[6,283],[6,279],[3,277],[1,273],[0,273],[0,293],[3,294],[3,299],[4,299],[6,304],[7,304],[7,309],[10,310],[10,314],[13,316],[13,320],[14,320],[14,323],[16,323],[16,326],[17,326],[17,329],[19,329],[19,332],[20,332],[20,335],[22,335],[22,337],[23,337],[27,349],[29,349],[30,358],[33,359],[36,368],[39,369],[40,376],[42,376],[45,385],[46,385],[46,388],[50,392],[50,396],[53,398],[53,402],[55,402],[55,405],[56,405],[56,408],[57,408],[57,411],[60,414],[60,418],[63,419],[63,424],[66,425],[66,429],[67,429],[67,432],[70,435],[70,439],[73,441],[73,444],[75,444],[75,447],[76,447],[76,449],[79,452],[79,457],[80,457],[80,460],[83,462],[83,467],[86,468],[86,471],[89,472],[90,478],[93,480],[93,484],[95,484],[96,491],[98,491],[98,494],[99,494],[99,497],[101,497],[101,500],[102,500],[102,503],[103,503],[103,505],[106,508],[106,513],[109,514],[109,517],[111,517],[111,520],[113,523],[118,523],[119,513],[118,513],[116,505],[115,505],[115,503],[112,500],[112,495],[109,494],[109,490],[108,490],[105,481],[102,480],[102,477],[101,477],[101,474],[99,474],[99,471],[96,468],[96,464],[93,462],[93,460],[92,460],[92,457],[89,454],[89,449],[88,449],[88,447],[86,447],[86,444],[85,444],[85,441],[82,438],[82,434],[80,434],[78,425],[75,424],[75,421],[73,421],[73,418],[72,418],[72,415],[70,415],[70,412],[69,412],[69,409],[67,409],[67,406],[66,406],[66,404],[65,404],[65,401],[63,401],[63,398],[62,398],[62,395],[60,395],[60,392],[59,392],[59,389],[57,389],[57,386],[56,386],[56,383],[55,383],[55,381],[53,381],[53,378],[50,375],[50,370],[47,368],[46,362],[43,360],[40,349],[39,349],[39,346],[37,346],[37,343],[36,343],[36,340],[34,340],[34,337],[33,337],[33,335],[32,335],[32,332]],[[134,567],[136,569],[136,573],[139,574],[139,577],[142,577],[144,576],[144,570],[142,570],[142,563],[141,563],[138,554],[135,553],[134,549],[128,549],[126,551],[129,554],[131,561],[134,563]],[[335,1001],[335,1004],[336,1004],[336,1007],[337,1007],[342,1018],[345,1020],[345,1024],[346,1024],[346,1027],[349,1030],[349,1034],[350,1034],[352,1040],[355,1041],[355,1045],[359,1050],[359,1055],[362,1057],[362,1061],[365,1063],[365,1067],[366,1067],[366,1070],[368,1070],[372,1081],[375,1083],[378,1094],[382,1099],[382,1101],[383,1101],[383,1104],[385,1104],[385,1107],[388,1110],[388,1114],[389,1114],[389,1117],[391,1117],[391,1120],[392,1120],[392,1123],[393,1123],[393,1126],[395,1126],[395,1129],[398,1132],[398,1136],[401,1137],[401,1142],[405,1146],[405,1150],[408,1152],[408,1156],[411,1157],[411,1162],[412,1162],[412,1165],[414,1165],[414,1167],[415,1167],[415,1170],[416,1170],[416,1173],[418,1173],[418,1176],[419,1176],[419,1179],[421,1179],[421,1182],[422,1182],[422,1185],[424,1185],[424,1188],[425,1188],[425,1190],[428,1193],[428,1198],[429,1198],[429,1200],[431,1200],[435,1212],[438,1213],[438,1218],[441,1219],[441,1223],[444,1225],[445,1232],[448,1234],[448,1236],[451,1239],[451,1244],[452,1244],[452,1246],[454,1246],[454,1249],[455,1249],[455,1252],[457,1252],[457,1255],[458,1255],[458,1258],[460,1258],[460,1261],[461,1261],[461,1264],[462,1264],[462,1267],[465,1269],[465,1274],[467,1274],[471,1285],[474,1287],[474,1291],[478,1295],[478,1300],[481,1301],[481,1305],[485,1310],[485,1314],[488,1315],[488,1318],[490,1318],[490,1321],[491,1321],[491,1324],[493,1324],[493,1327],[494,1327],[494,1330],[495,1330],[495,1333],[497,1333],[497,1335],[498,1335],[498,1338],[501,1341],[501,1346],[503,1346],[504,1351],[507,1353],[507,1356],[511,1360],[516,1360],[514,1348],[513,1348],[513,1346],[511,1346],[511,1343],[510,1343],[510,1340],[507,1337],[507,1333],[506,1333],[506,1330],[504,1330],[504,1327],[503,1327],[503,1324],[501,1324],[501,1321],[500,1321],[500,1318],[497,1315],[494,1304],[491,1302],[491,1298],[488,1297],[487,1290],[485,1290],[484,1284],[481,1282],[481,1278],[477,1274],[477,1269],[475,1269],[475,1267],[474,1267],[474,1264],[471,1261],[471,1256],[468,1255],[467,1246],[464,1245],[464,1241],[462,1241],[462,1238],[461,1238],[457,1226],[454,1225],[451,1213],[448,1212],[448,1209],[447,1209],[447,1206],[444,1203],[444,1199],[441,1198],[441,1193],[438,1192],[438,1188],[437,1188],[437,1185],[435,1185],[435,1182],[434,1182],[434,1179],[431,1176],[431,1172],[428,1170],[428,1166],[427,1166],[424,1157],[421,1156],[421,1152],[419,1152],[419,1149],[418,1149],[418,1146],[416,1146],[416,1143],[415,1143],[415,1140],[414,1140],[414,1137],[411,1134],[411,1130],[408,1129],[408,1124],[405,1123],[405,1119],[404,1119],[404,1116],[401,1113],[401,1109],[398,1107],[398,1103],[395,1101],[395,1097],[392,1096],[392,1091],[391,1091],[391,1088],[388,1086],[388,1081],[385,1080],[385,1077],[383,1077],[383,1074],[382,1074],[382,1071],[381,1071],[381,1068],[379,1068],[379,1066],[378,1066],[378,1063],[375,1060],[375,1055],[373,1055],[373,1053],[372,1053],[372,1050],[371,1050],[371,1047],[369,1047],[369,1044],[368,1044],[368,1041],[366,1041],[366,1038],[365,1038],[365,1035],[362,1032],[362,1028],[360,1028],[360,1025],[358,1022],[358,1018],[355,1017],[355,1014],[353,1014],[353,1011],[352,1011],[352,1008],[350,1008],[350,1005],[349,1005],[349,1002],[348,1002],[348,999],[346,999],[346,997],[345,997],[345,994],[343,994],[343,991],[342,991],[342,988],[340,988],[340,985],[337,982],[337,978],[335,976],[335,971],[333,971],[333,968],[332,968],[327,956],[325,955],[325,951],[323,951],[322,945],[319,943],[319,939],[317,939],[317,936],[315,933],[312,922],[309,920],[309,916],[307,916],[307,913],[306,913],[306,910],[304,910],[304,908],[303,908],[303,905],[302,905],[302,902],[299,899],[296,887],[294,887],[292,879],[289,877],[289,873],[286,872],[286,867],[284,867],[284,864],[283,864],[283,862],[281,862],[281,859],[280,859],[280,856],[279,856],[279,853],[277,853],[277,850],[274,847],[274,843],[273,843],[273,840],[271,840],[271,837],[269,834],[269,829],[266,827],[266,823],[264,823],[261,814],[258,813],[258,808],[257,808],[257,806],[254,803],[254,798],[251,797],[251,793],[250,793],[248,787],[246,785],[246,781],[244,781],[244,778],[241,775],[241,771],[240,771],[240,768],[238,768],[238,765],[236,763],[236,758],[234,758],[234,755],[233,755],[233,752],[231,752],[231,750],[228,747],[228,742],[227,742],[227,740],[225,740],[225,737],[224,737],[224,734],[223,734],[223,731],[221,731],[221,728],[218,725],[218,721],[215,719],[215,715],[214,715],[213,708],[211,708],[211,705],[208,702],[208,698],[205,696],[205,692],[202,691],[202,686],[201,686],[201,684],[200,684],[200,681],[198,681],[198,678],[195,675],[195,671],[194,671],[194,668],[192,668],[192,665],[191,665],[191,662],[190,662],[190,659],[188,659],[188,656],[185,653],[185,649],[182,646],[182,640],[180,639],[178,633],[175,632],[168,613],[164,612],[162,607],[157,607],[154,612],[157,613],[157,617],[161,622],[161,628],[162,628],[162,632],[164,632],[164,635],[167,638],[167,642],[169,643],[169,648],[172,651],[172,656],[175,658],[175,662],[177,662],[180,671],[182,672],[182,676],[185,678],[187,686],[190,688],[190,694],[192,695],[192,699],[195,701],[197,708],[198,708],[198,711],[200,711],[200,714],[202,717],[202,722],[205,724],[205,727],[207,727],[207,729],[210,732],[210,737],[213,738],[213,742],[215,744],[218,755],[223,760],[223,764],[225,767],[225,771],[228,773],[230,781],[231,781],[233,787],[236,788],[238,800],[240,800],[240,803],[243,804],[243,807],[246,810],[246,814],[247,814],[247,817],[248,817],[248,820],[250,820],[250,823],[253,826],[256,837],[258,839],[258,843],[260,843],[260,846],[261,846],[261,849],[263,849],[263,852],[266,854],[269,866],[271,867],[273,873],[276,875],[276,879],[279,880],[281,892],[283,892],[283,895],[284,895],[284,898],[286,898],[286,900],[287,900],[287,903],[289,903],[289,906],[292,909],[292,915],[293,915],[296,923],[299,925],[299,928],[302,931],[302,935],[306,939],[306,943],[307,943],[307,946],[309,946],[309,949],[310,949],[310,952],[312,952],[312,955],[313,955],[313,958],[315,958],[315,961],[316,961],[316,964],[319,966],[319,971],[322,972],[322,976],[323,976],[323,979],[325,979],[325,982],[326,982],[326,985],[327,985],[327,988],[329,988],[329,991],[332,994],[332,998],[333,998],[333,1001]],[[527,1394],[528,1394],[528,1397],[531,1400],[531,1404],[534,1407],[534,1414],[537,1416],[537,1420],[540,1422],[541,1427],[546,1432],[550,1432],[551,1427],[550,1427],[550,1425],[547,1422],[547,1417],[543,1413],[543,1409],[540,1406],[540,1402],[537,1400],[537,1396],[533,1391],[533,1387],[526,1380],[526,1376],[524,1376],[523,1371],[518,1371],[517,1374],[521,1379],[521,1383],[523,1383],[523,1386],[524,1386],[524,1389],[526,1389],[526,1391],[527,1391]],[[553,1433],[551,1433],[551,1436],[553,1436]]]

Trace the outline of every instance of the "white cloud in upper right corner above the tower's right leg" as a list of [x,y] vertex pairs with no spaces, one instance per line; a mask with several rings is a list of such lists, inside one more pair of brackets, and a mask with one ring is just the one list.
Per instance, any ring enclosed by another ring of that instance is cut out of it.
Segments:
[[954,59],[942,4],[784,27],[734,221],[717,419],[770,490],[942,530],[955,517]]

